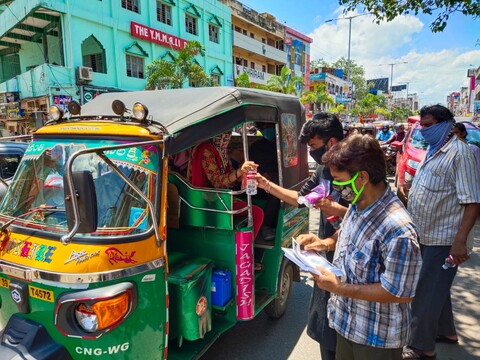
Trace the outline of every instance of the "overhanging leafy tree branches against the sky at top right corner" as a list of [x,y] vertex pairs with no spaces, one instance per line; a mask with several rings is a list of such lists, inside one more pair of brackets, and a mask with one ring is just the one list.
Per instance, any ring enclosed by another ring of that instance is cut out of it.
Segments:
[[447,26],[451,14],[480,16],[480,2],[478,0],[339,0],[340,5],[345,5],[344,12],[356,10],[363,6],[365,12],[373,14],[375,21],[392,21],[399,15],[419,13],[434,15],[435,20],[430,24],[432,32],[441,32]]

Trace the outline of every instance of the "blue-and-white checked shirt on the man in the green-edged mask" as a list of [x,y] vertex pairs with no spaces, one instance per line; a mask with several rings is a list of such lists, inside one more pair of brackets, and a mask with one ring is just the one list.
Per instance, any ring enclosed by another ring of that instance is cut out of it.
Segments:
[[[417,233],[397,196],[387,189],[366,209],[350,206],[343,218],[333,263],[348,284],[374,284],[397,297],[413,297],[422,265]],[[400,348],[410,328],[410,305],[332,294],[330,327],[362,345]]]

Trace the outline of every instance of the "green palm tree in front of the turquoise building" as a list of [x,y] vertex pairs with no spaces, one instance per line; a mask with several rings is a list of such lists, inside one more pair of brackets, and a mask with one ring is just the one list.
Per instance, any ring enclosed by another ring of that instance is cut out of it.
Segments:
[[173,56],[173,61],[153,60],[147,66],[147,90],[180,89],[188,81],[196,86],[207,86],[210,79],[203,68],[195,62],[195,56],[205,55],[198,41],[189,41]]

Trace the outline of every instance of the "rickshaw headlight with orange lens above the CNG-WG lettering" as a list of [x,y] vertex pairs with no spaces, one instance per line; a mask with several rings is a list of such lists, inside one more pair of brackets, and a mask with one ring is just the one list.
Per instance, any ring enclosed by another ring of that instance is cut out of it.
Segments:
[[86,332],[96,332],[120,322],[128,313],[130,300],[127,293],[95,303],[80,303],[75,309],[75,318]]

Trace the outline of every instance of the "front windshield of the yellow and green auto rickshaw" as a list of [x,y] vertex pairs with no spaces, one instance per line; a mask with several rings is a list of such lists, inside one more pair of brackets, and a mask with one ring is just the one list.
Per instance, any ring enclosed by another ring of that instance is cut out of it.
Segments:
[[[64,235],[68,232],[63,176],[67,160],[77,151],[122,145],[120,141],[84,140],[61,142],[36,140],[31,143],[0,204],[0,221],[19,227]],[[106,157],[154,201],[159,166],[155,146],[106,150]],[[85,237],[122,236],[148,231],[152,226],[149,207],[135,190],[95,153],[78,156],[72,171],[93,175],[97,197],[98,226]]]

